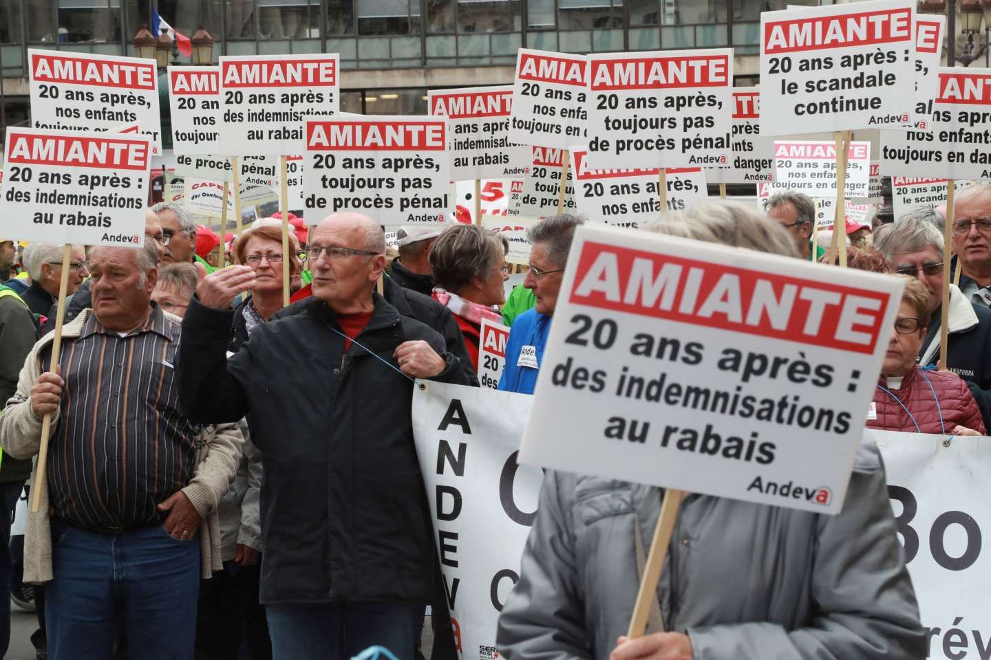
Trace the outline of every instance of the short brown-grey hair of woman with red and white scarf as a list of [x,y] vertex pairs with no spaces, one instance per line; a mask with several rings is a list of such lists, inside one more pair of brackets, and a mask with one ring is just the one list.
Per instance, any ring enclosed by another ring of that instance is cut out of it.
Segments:
[[473,279],[487,280],[509,241],[478,225],[452,225],[430,249],[430,269],[437,286],[458,293]]

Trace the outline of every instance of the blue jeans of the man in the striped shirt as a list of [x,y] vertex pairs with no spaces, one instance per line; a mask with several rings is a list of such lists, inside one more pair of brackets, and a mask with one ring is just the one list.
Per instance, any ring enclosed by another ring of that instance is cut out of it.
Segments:
[[45,585],[52,660],[113,657],[118,622],[129,656],[189,660],[196,632],[199,538],[161,525],[116,534],[52,523],[53,573]]

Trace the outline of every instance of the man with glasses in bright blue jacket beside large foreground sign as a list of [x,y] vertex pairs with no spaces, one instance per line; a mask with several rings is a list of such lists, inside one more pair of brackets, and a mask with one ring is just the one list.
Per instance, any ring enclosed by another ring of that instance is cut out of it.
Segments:
[[584,223],[576,216],[545,218],[534,225],[527,237],[533,243],[530,270],[523,286],[533,291],[537,305],[516,317],[505,346],[505,369],[498,389],[504,392],[533,394],[537,373],[551,329],[551,317],[557,304],[564,266],[568,261],[575,228]]

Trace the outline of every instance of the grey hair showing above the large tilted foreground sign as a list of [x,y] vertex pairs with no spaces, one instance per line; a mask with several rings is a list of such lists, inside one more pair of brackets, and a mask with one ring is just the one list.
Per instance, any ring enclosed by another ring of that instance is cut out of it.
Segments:
[[788,230],[739,202],[705,202],[688,211],[667,213],[644,224],[657,234],[682,236],[758,252],[797,257],[795,240]]

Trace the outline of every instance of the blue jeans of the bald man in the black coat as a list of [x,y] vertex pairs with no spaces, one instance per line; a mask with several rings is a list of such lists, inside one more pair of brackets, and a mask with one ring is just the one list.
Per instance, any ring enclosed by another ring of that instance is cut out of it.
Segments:
[[267,605],[273,660],[348,660],[385,646],[412,660],[424,606],[408,603]]

